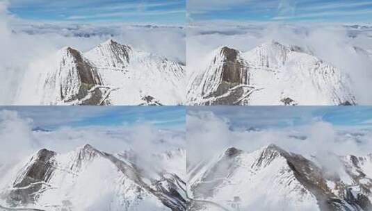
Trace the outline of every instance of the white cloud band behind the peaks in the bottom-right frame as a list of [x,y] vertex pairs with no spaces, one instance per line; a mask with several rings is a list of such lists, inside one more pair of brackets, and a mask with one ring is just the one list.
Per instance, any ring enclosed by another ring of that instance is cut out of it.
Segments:
[[[268,116],[265,117],[265,112],[260,112],[263,119],[270,119],[270,112],[267,113]],[[371,130],[355,127],[338,128],[321,120],[309,121],[309,124],[302,126],[275,128],[268,125],[259,131],[249,131],[250,123],[254,124],[254,118],[242,117],[248,128],[232,130],[234,119],[226,119],[213,112],[193,110],[188,112],[186,117],[188,162],[191,163],[210,160],[229,146],[251,152],[269,144],[276,144],[286,151],[305,155],[309,159],[314,155],[323,165],[330,162],[330,153],[336,155],[372,153]],[[359,137],[350,135],[355,132],[363,135]]]

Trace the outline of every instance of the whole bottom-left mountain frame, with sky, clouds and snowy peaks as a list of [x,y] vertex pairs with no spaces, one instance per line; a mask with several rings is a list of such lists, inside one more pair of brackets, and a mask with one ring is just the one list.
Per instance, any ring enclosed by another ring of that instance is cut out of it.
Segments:
[[0,107],[0,210],[186,210],[184,107]]

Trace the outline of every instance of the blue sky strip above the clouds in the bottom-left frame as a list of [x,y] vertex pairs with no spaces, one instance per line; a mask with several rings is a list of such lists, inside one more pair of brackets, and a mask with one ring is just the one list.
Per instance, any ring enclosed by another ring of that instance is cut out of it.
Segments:
[[184,130],[184,106],[1,106],[33,120],[33,128],[53,130],[62,126],[125,126],[151,124]]

